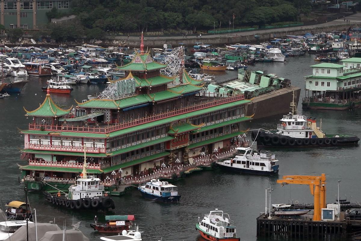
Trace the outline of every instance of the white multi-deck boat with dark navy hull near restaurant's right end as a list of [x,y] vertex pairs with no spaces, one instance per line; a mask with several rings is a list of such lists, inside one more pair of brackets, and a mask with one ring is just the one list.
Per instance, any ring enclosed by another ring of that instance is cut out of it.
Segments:
[[275,155],[258,153],[249,147],[238,147],[234,158],[216,163],[224,170],[247,174],[277,175],[279,171]]

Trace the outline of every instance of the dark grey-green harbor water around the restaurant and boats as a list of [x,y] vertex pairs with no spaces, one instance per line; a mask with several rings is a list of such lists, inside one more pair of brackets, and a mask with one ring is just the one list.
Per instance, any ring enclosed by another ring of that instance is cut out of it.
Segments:
[[[257,63],[249,66],[253,70],[267,70],[279,77],[291,79],[291,83],[301,87],[301,97],[304,96],[305,81],[303,76],[312,71],[309,67],[315,62],[314,56],[306,54],[303,57],[290,57],[287,62]],[[236,75],[235,71],[217,76],[217,79],[231,78]],[[20,159],[19,150],[23,148],[24,137],[19,129],[27,129],[31,121],[24,114],[23,106],[27,110],[33,110],[42,103],[45,92],[41,87],[45,86],[46,78],[29,77],[19,94],[12,94],[8,98],[0,99],[0,201],[1,208],[8,200],[24,200],[23,186],[19,184],[20,170],[18,165],[25,165],[26,161]],[[60,105],[76,105],[87,99],[87,95],[99,93],[102,87],[80,85],[75,86],[70,96],[52,94],[52,98]],[[300,97],[300,102],[301,102]],[[299,104],[299,110],[300,109]],[[322,130],[326,134],[346,133],[361,136],[360,115],[361,109],[355,111],[333,110],[310,110],[303,111],[308,117],[322,119]],[[274,129],[281,116],[273,116],[256,121],[243,123],[244,130],[248,128]],[[239,175],[221,170],[200,171],[188,175],[175,185],[182,195],[181,202],[177,204],[163,204],[145,200],[137,189],[121,196],[113,197],[116,209],[113,214],[132,214],[136,217],[136,224],[142,231],[143,240],[202,240],[195,230],[198,217],[210,210],[218,208],[230,214],[237,227],[237,236],[241,240],[254,241],[256,237],[256,218],[265,210],[265,188],[273,188],[271,192],[272,203],[312,203],[313,197],[306,185],[287,185],[282,187],[276,183],[277,178],[283,175],[319,175],[325,173],[327,202],[336,200],[337,181],[340,183],[340,197],[348,201],[360,202],[361,192],[358,190],[360,181],[361,156],[360,146],[345,146],[332,148],[303,148],[303,149],[270,149],[270,153],[279,159],[279,176],[266,177],[254,175]],[[96,211],[72,212],[70,210],[55,207],[44,200],[41,193],[30,192],[29,199],[32,208],[36,208],[38,221],[49,222],[55,219],[55,223],[62,227],[66,220],[68,228],[72,223],[81,221],[81,231],[90,240],[99,240],[99,235],[92,228],[94,216],[99,217],[98,222],[104,221],[104,213]]]

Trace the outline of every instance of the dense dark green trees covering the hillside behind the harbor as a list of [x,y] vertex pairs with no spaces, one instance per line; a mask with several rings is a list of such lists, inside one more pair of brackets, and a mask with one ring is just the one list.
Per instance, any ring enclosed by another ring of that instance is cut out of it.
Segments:
[[296,21],[309,13],[310,4],[308,0],[74,0],[72,13],[86,29],[197,31],[214,25],[227,28],[232,21],[235,27]]

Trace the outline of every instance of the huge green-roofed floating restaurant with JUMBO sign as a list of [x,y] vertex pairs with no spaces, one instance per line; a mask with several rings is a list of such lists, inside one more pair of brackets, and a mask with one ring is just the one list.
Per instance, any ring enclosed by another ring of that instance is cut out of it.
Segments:
[[[21,181],[33,190],[67,190],[82,171],[112,190],[121,178],[147,175],[164,165],[192,164],[201,154],[234,146],[245,116],[244,95],[204,92],[202,80],[160,74],[166,65],[144,52],[121,67],[126,78],[112,81],[99,96],[62,109],[48,92],[25,135]],[[178,160],[177,160],[178,159]],[[177,160],[177,162],[176,162]],[[182,162],[182,163],[180,163]]]

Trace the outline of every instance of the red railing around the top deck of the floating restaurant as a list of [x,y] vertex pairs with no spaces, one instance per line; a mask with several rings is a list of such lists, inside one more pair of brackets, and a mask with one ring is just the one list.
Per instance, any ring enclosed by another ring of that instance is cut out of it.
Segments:
[[133,127],[133,126],[138,126],[140,124],[145,124],[145,123],[173,117],[176,115],[190,113],[190,112],[196,111],[196,110],[202,110],[202,109],[210,108],[213,106],[218,106],[218,105],[227,104],[230,102],[235,102],[238,100],[244,100],[244,95],[237,95],[237,96],[232,96],[232,97],[227,97],[227,98],[221,98],[216,101],[210,101],[210,102],[206,102],[203,104],[188,106],[186,108],[179,109],[179,110],[168,111],[168,112],[158,114],[158,115],[152,115],[152,116],[145,117],[145,118],[135,119],[134,121],[128,121],[126,123],[115,124],[113,126],[106,127],[106,128],[77,127],[77,126],[65,126],[65,125],[51,126],[51,125],[41,125],[41,124],[30,123],[29,130],[64,131],[64,132],[69,131],[69,132],[86,132],[86,133],[104,133],[105,134],[105,133],[118,131],[118,130],[122,130],[125,128]]

